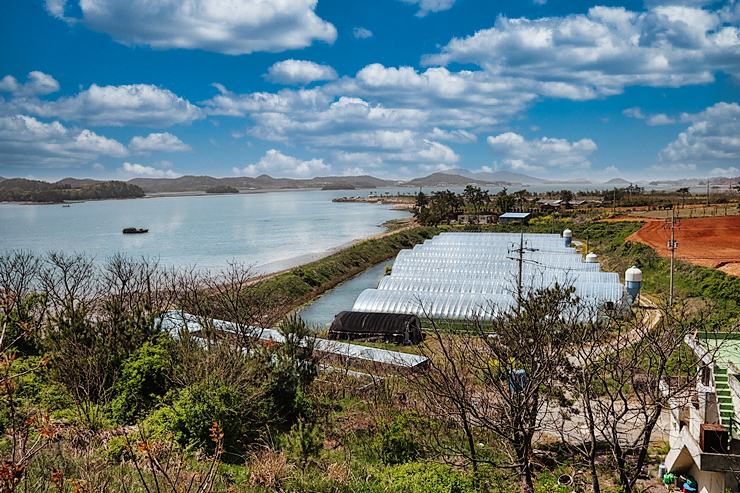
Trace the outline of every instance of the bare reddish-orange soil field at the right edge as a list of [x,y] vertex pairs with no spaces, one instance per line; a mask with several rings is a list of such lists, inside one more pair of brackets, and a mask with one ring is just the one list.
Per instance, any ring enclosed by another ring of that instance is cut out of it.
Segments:
[[[650,221],[627,237],[651,246],[661,257],[670,257],[670,229],[664,220]],[[676,258],[740,276],[740,216],[681,219],[676,230]]]

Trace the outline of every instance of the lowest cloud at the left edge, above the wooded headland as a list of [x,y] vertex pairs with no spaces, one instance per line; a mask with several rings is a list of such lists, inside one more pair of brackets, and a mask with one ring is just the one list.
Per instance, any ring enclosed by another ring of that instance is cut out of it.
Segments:
[[3,164],[25,167],[80,166],[98,156],[124,157],[128,149],[87,129],[68,129],[25,115],[0,117]]

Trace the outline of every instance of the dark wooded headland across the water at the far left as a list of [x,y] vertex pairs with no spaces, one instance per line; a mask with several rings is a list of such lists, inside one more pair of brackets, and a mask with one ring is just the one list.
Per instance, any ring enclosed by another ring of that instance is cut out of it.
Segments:
[[81,188],[69,184],[13,178],[0,182],[3,202],[64,202],[68,200],[133,199],[144,196],[136,185],[120,181],[98,182]]

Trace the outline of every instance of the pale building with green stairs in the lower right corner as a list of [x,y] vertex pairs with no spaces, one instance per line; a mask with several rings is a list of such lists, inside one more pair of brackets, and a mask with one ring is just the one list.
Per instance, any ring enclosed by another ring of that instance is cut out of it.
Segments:
[[687,335],[698,356],[696,392],[671,401],[666,471],[693,476],[697,493],[738,492],[740,479],[740,334]]

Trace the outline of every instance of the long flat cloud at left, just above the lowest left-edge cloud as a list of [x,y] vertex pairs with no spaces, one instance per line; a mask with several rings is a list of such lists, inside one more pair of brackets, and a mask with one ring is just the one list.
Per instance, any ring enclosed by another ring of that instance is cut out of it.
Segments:
[[0,111],[60,118],[95,126],[169,127],[190,124],[204,111],[168,89],[148,84],[100,87],[96,84],[56,101],[35,98],[0,103]]

